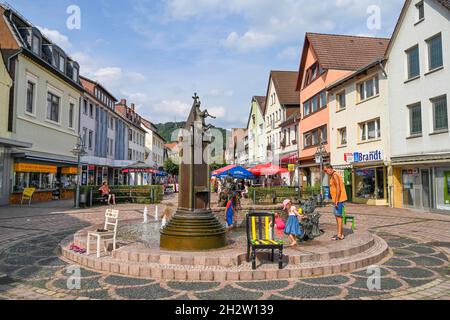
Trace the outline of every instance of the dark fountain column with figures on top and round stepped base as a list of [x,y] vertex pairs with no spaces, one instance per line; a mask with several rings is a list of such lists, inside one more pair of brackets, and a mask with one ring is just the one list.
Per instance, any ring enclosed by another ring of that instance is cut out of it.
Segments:
[[226,231],[212,213],[210,201],[210,170],[204,150],[211,143],[206,132],[208,111],[200,110],[197,94],[189,114],[186,130],[180,138],[180,179],[178,209],[161,231],[161,249],[200,251],[227,245]]

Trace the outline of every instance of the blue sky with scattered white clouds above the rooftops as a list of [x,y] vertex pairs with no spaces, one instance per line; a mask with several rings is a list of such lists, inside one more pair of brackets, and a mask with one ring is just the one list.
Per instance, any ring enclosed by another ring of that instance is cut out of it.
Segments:
[[[136,103],[149,120],[185,120],[198,92],[215,124],[232,128],[245,127],[270,70],[298,70],[305,32],[389,37],[403,0],[9,3],[78,60],[82,74]],[[79,30],[66,26],[70,5],[81,9]],[[373,8],[380,28],[368,27]]]

